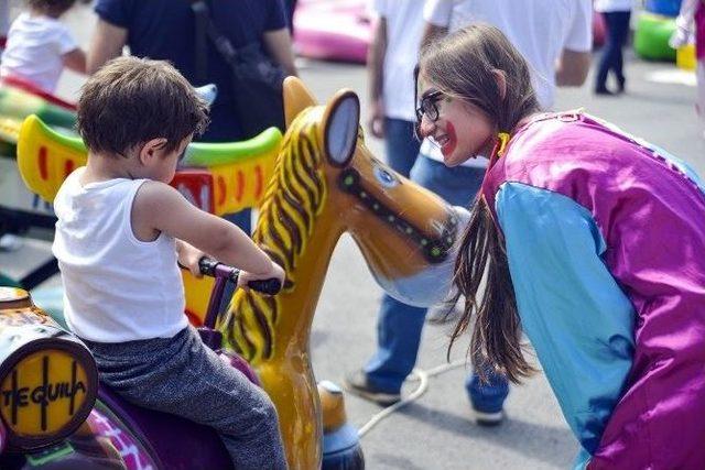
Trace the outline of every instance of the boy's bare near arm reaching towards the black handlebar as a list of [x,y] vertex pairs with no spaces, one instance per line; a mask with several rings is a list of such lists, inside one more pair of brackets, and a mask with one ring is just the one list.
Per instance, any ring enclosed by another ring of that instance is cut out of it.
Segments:
[[198,209],[163,183],[147,182],[134,197],[132,230],[149,229],[163,231],[257,276],[273,270],[267,253],[237,226]]

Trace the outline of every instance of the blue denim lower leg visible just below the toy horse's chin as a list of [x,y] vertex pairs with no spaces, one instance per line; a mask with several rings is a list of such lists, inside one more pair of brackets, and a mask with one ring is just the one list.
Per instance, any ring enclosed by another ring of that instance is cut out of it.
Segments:
[[381,392],[399,393],[416,363],[426,309],[384,295],[377,323],[377,352],[364,370]]

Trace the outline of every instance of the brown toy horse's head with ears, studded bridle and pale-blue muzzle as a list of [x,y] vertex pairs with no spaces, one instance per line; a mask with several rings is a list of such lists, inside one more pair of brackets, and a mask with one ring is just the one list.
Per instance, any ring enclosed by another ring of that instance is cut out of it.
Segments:
[[467,211],[447,205],[370,153],[355,92],[340,90],[325,107],[317,107],[303,84],[291,78],[284,94],[288,139],[294,147],[317,149],[311,170],[325,182],[323,204],[330,206],[325,215],[335,219],[334,229],[350,232],[391,296],[416,306],[443,299]]

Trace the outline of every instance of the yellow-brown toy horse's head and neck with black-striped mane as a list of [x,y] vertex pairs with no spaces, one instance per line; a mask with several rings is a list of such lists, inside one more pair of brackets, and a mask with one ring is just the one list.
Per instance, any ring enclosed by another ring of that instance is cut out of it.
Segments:
[[286,133],[253,234],[284,267],[284,288],[273,297],[236,292],[219,329],[274,401],[291,468],[314,469],[322,424],[308,341],[338,239],[352,237],[390,295],[431,305],[448,292],[451,250],[466,212],[370,153],[352,91],[316,106],[290,77],[284,103]]

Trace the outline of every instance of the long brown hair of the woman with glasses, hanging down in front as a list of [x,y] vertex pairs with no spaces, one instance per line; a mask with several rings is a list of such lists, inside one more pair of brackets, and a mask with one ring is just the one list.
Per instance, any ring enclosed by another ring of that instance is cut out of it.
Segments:
[[[539,111],[527,62],[497,28],[476,23],[424,48],[421,77],[445,95],[474,105],[496,125],[511,133],[519,122]],[[498,84],[503,75],[506,89]],[[486,287],[480,292],[482,278]],[[476,371],[496,370],[512,382],[533,372],[522,353],[521,321],[499,228],[484,197],[477,197],[455,263],[456,300],[465,309],[451,337],[451,348],[470,326],[476,313],[470,349]]]

